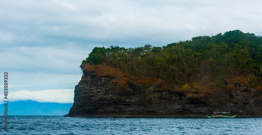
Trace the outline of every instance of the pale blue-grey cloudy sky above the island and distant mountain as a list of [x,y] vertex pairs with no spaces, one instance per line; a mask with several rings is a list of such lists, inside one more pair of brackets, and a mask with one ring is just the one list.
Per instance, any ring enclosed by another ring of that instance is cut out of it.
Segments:
[[10,101],[73,103],[79,66],[94,47],[161,46],[236,29],[262,35],[261,3],[2,0],[0,87],[8,72]]

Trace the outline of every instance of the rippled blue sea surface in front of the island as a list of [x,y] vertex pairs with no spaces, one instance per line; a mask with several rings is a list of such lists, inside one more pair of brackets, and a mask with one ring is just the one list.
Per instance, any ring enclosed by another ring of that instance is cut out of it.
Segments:
[[262,134],[262,118],[0,116],[0,134]]

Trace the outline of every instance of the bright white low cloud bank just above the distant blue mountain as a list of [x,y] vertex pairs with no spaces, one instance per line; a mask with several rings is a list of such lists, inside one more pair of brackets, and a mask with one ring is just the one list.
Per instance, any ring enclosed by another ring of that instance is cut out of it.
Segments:
[[[4,97],[4,95],[0,95]],[[43,91],[26,91],[20,90],[8,94],[8,101],[27,101],[33,100],[36,102],[56,102],[56,103],[73,103],[74,90],[61,89],[61,90],[43,90]],[[1,101],[0,104],[3,104]]]

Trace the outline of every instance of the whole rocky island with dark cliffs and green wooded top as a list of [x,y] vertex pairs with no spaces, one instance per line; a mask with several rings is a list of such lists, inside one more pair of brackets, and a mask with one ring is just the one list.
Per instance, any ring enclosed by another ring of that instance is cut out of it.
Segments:
[[69,117],[262,117],[262,38],[240,30],[167,46],[95,47]]

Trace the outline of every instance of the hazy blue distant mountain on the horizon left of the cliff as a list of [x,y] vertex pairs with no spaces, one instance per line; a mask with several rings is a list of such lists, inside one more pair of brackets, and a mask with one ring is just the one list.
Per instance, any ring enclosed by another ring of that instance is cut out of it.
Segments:
[[[3,106],[1,104],[0,106]],[[40,103],[36,101],[8,102],[8,115],[65,115],[73,104]],[[0,108],[4,112],[4,108]],[[1,113],[1,115],[3,115]]]

